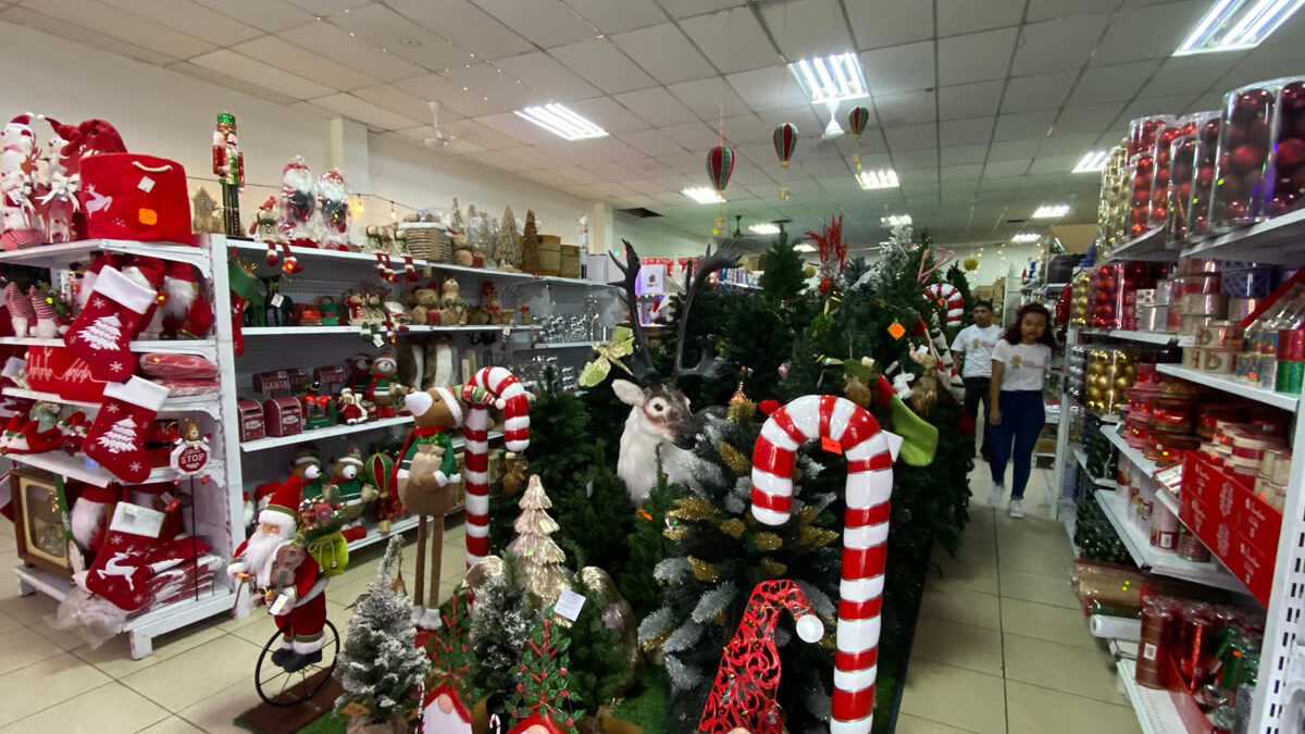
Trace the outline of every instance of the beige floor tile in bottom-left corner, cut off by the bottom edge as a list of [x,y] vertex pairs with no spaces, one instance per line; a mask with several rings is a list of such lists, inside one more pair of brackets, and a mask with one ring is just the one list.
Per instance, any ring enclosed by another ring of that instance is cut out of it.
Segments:
[[110,682],[61,704],[0,727],[0,734],[132,734],[168,712],[121,683]]

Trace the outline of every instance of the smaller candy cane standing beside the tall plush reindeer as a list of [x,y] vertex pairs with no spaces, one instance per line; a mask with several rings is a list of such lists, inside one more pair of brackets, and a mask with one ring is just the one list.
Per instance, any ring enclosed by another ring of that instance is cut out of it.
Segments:
[[467,487],[467,568],[489,555],[489,405],[502,410],[508,451],[530,445],[530,396],[517,376],[502,367],[485,367],[462,385],[467,418],[462,424]]

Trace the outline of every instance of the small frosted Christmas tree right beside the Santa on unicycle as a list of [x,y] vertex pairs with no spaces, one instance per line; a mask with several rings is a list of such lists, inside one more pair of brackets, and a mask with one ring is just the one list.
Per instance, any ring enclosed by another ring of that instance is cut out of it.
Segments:
[[416,646],[412,601],[390,582],[403,539],[390,538],[376,581],[348,622],[337,677],[345,695],[335,710],[348,717],[348,734],[402,734],[422,703],[429,669]]

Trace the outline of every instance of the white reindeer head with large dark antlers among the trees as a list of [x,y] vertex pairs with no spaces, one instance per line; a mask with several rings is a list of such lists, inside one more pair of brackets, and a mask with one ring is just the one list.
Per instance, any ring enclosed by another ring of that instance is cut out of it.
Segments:
[[[622,240],[625,242],[625,240]],[[689,477],[689,464],[693,444],[702,427],[702,415],[694,414],[689,398],[676,384],[688,376],[715,376],[724,359],[715,354],[711,343],[703,346],[702,358],[693,368],[684,367],[684,347],[688,340],[689,315],[698,291],[706,285],[711,273],[722,268],[739,265],[739,256],[728,240],[706,257],[690,277],[685,273],[684,313],[680,315],[680,328],[676,334],[675,371],[669,383],[659,380],[652,358],[649,354],[647,338],[639,325],[638,300],[634,285],[639,273],[639,256],[634,247],[625,242],[625,263],[612,256],[625,274],[619,285],[625,289],[625,303],[630,313],[630,329],[634,332],[634,355],[632,372],[647,387],[639,387],[630,380],[613,380],[612,389],[621,402],[630,406],[630,417],[625,421],[621,434],[621,452],[616,474],[625,481],[630,500],[643,502],[658,482],[658,470],[666,471],[672,482],[683,482]]]

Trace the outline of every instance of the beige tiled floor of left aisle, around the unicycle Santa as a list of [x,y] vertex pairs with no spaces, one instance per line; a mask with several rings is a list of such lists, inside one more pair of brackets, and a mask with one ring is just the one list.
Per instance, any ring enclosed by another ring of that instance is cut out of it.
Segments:
[[[463,528],[445,532],[441,598],[465,567]],[[0,521],[0,734],[248,734],[232,721],[258,704],[253,669],[273,623],[256,610],[245,619],[214,616],[154,640],[154,654],[133,661],[127,636],[97,650],[43,620],[56,603],[18,597],[9,569],[18,564],[13,525]],[[406,535],[403,579],[414,589],[416,533]],[[331,580],[328,614],[345,628],[345,609],[376,577],[384,543],[363,549]]]

